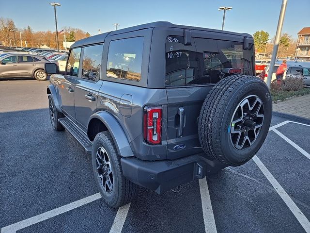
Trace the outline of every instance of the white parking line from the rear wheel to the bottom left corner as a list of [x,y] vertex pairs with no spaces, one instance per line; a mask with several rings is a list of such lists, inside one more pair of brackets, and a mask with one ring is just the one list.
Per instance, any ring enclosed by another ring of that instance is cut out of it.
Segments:
[[23,229],[25,227],[29,227],[29,226],[31,226],[33,224],[38,223],[38,222],[42,222],[44,220],[47,220],[48,218],[61,215],[61,214],[65,213],[65,212],[68,212],[70,210],[76,209],[76,208],[78,208],[78,207],[80,207],[82,205],[90,203],[90,202],[92,202],[94,200],[98,200],[100,198],[101,198],[100,193],[96,193],[96,194],[94,194],[92,196],[89,196],[89,197],[86,197],[86,198],[83,198],[83,199],[71,202],[71,203],[69,203],[67,205],[63,205],[63,206],[58,207],[56,209],[47,211],[47,212],[45,212],[43,214],[40,214],[40,215],[37,215],[37,216],[33,216],[33,217],[27,218],[25,220],[22,220],[20,222],[16,222],[16,223],[14,223],[12,225],[3,227],[3,228],[1,228],[1,233],[15,233],[16,231],[18,231],[20,229]]

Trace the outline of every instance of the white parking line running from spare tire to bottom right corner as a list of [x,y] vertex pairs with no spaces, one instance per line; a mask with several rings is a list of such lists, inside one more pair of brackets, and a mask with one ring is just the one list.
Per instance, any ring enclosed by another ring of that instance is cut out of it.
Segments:
[[278,181],[274,178],[274,176],[269,172],[269,170],[263,165],[262,161],[255,155],[253,157],[256,165],[261,169],[264,176],[268,179],[271,185],[275,188],[281,199],[285,202],[285,204],[292,211],[293,215],[297,218],[301,226],[305,229],[306,233],[310,233],[310,222],[306,216],[301,212],[301,210],[297,207],[294,201],[290,198],[290,196],[285,192],[282,186],[278,183]]

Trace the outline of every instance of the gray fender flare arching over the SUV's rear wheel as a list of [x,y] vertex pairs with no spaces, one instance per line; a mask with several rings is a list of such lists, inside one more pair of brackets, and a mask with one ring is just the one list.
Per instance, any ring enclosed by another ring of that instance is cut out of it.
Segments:
[[107,127],[109,133],[114,140],[119,155],[121,155],[122,157],[134,156],[134,153],[132,152],[129,145],[127,136],[114,116],[109,114],[107,111],[99,111],[97,113],[94,113],[89,119],[87,129],[89,128],[89,123],[93,118],[99,119]]

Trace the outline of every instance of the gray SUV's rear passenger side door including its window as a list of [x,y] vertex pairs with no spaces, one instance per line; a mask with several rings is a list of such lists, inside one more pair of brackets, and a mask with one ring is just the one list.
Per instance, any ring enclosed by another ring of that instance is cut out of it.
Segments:
[[90,116],[95,112],[100,80],[103,44],[84,47],[81,59],[81,78],[75,86],[74,105],[78,125],[85,131]]

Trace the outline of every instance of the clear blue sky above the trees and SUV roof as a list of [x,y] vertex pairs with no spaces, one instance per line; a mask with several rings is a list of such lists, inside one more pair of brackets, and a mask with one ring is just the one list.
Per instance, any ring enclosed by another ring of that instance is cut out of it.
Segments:
[[[5,0],[0,17],[9,17],[17,28],[31,26],[33,31],[55,30],[54,10],[48,0]],[[58,28],[71,26],[90,34],[152,21],[170,21],[205,28],[220,29],[223,12],[230,6],[225,30],[250,33],[264,30],[275,35],[282,0],[58,0]],[[107,3],[108,2],[108,3]],[[297,37],[303,27],[310,27],[310,0],[288,0],[282,33]]]

